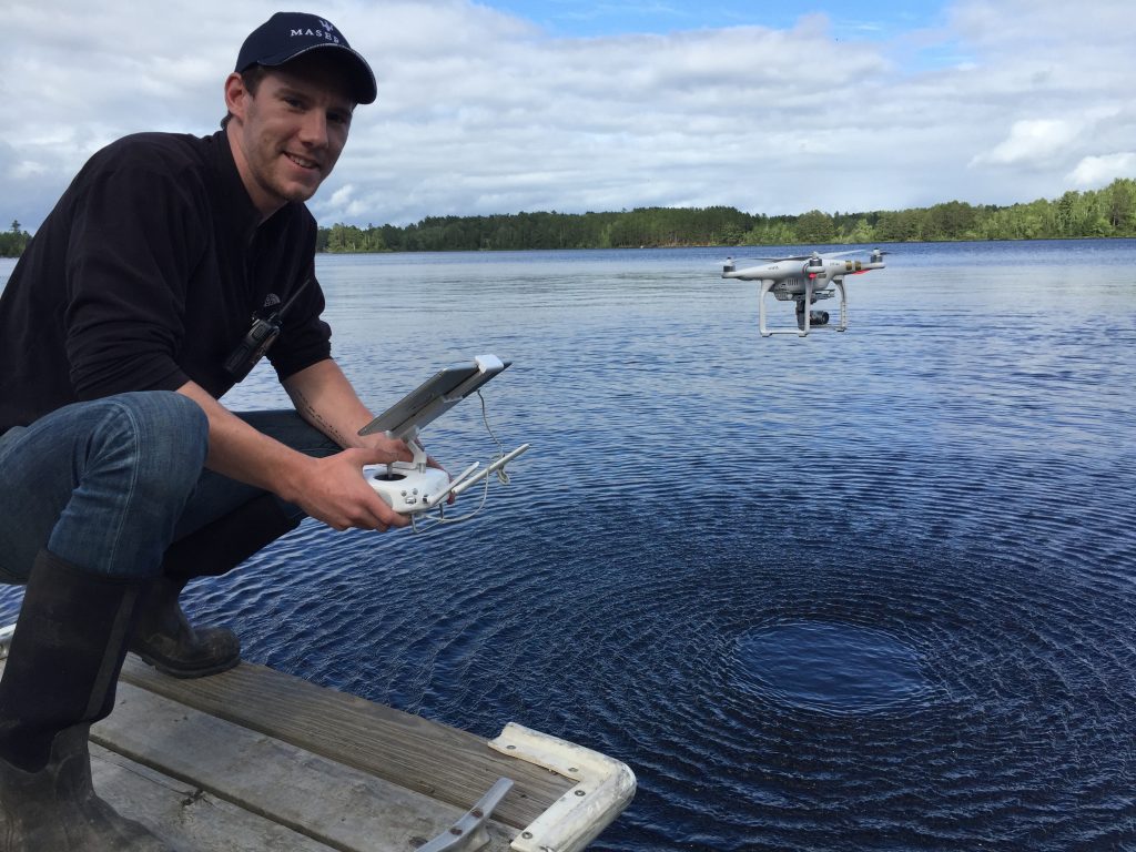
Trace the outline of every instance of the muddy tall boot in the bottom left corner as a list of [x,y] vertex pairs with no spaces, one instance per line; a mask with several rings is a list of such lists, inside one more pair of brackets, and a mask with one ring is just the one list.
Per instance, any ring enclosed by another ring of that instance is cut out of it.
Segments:
[[91,784],[140,584],[41,551],[0,680],[0,852],[168,852]]

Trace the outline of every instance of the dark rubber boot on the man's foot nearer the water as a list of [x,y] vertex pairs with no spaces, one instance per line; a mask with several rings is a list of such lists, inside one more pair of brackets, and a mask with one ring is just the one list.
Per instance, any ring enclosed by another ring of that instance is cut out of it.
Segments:
[[227,627],[194,627],[177,602],[193,577],[220,576],[299,525],[272,494],[254,498],[174,542],[153,580],[130,650],[173,677],[204,677],[241,661],[241,641]]

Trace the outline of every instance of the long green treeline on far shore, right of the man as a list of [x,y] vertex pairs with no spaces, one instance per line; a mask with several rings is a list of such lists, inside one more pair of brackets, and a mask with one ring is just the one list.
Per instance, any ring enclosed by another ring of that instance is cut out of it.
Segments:
[[623,249],[670,245],[799,245],[950,240],[1136,236],[1136,181],[1070,191],[1011,207],[949,201],[934,207],[800,216],[745,214],[732,207],[645,207],[621,212],[521,212],[431,216],[414,225],[334,225],[319,251],[478,251]]

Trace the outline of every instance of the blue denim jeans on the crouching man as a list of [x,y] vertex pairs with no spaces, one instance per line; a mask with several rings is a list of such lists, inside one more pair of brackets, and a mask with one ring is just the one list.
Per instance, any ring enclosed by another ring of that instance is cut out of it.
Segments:
[[[294,411],[243,417],[302,452],[340,449]],[[77,402],[9,429],[0,436],[0,582],[26,582],[42,548],[97,574],[158,576],[173,541],[264,493],[204,469],[208,436],[201,408],[166,391]]]

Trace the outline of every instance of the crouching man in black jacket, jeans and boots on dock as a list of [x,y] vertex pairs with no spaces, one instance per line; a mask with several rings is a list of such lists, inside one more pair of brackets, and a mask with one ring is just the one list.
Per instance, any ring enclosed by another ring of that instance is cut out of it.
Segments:
[[[0,296],[0,578],[27,584],[0,682],[0,852],[166,849],[91,788],[87,732],[127,648],[225,670],[240,643],[186,621],[189,579],[304,515],[406,524],[360,474],[411,453],[357,434],[373,415],[331,359],[303,204],[375,97],[327,20],[274,15],[225,81],[222,131],[97,153]],[[237,416],[218,400],[265,341],[295,411]]]

